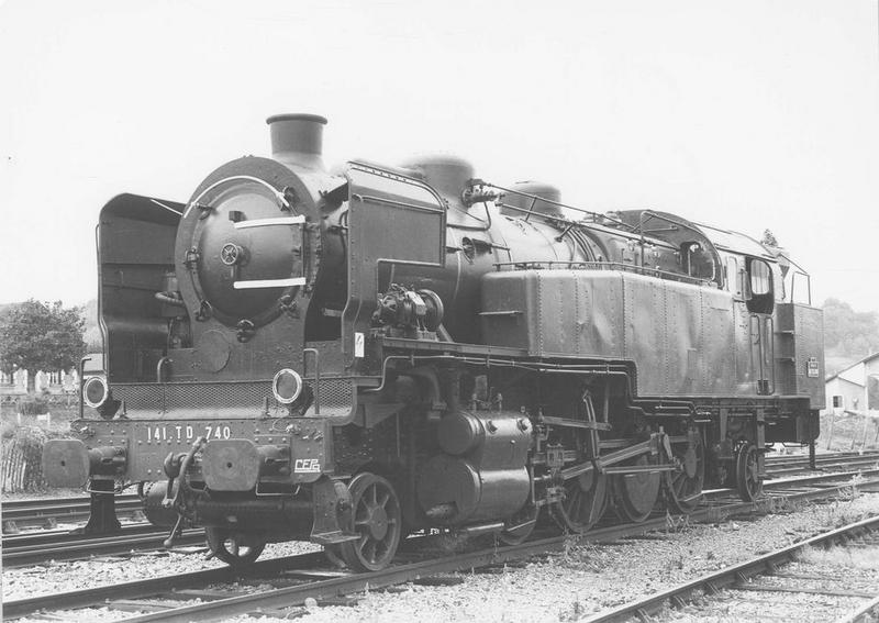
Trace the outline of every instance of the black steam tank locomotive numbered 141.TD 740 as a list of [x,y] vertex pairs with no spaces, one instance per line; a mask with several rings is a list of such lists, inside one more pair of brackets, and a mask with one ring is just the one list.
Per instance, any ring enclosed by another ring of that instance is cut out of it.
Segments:
[[814,442],[822,315],[783,249],[450,156],[331,173],[325,123],[268,119],[271,157],[186,203],[103,208],[104,369],[43,455],[92,529],[136,485],[168,545],[204,526],[231,565],[308,539],[375,570],[416,531],[754,499],[772,443]]

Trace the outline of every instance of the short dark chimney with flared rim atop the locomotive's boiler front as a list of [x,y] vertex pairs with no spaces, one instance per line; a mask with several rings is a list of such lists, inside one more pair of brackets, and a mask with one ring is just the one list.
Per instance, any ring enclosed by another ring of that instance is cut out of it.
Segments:
[[324,170],[323,126],[318,114],[276,114],[266,120],[271,133],[271,157],[290,167]]

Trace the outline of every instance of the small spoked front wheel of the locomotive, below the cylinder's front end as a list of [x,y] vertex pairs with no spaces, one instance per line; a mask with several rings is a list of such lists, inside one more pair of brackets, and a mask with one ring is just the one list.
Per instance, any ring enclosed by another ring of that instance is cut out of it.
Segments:
[[390,564],[400,544],[400,500],[388,480],[368,471],[355,476],[348,489],[359,538],[343,543],[340,553],[352,569],[378,571]]

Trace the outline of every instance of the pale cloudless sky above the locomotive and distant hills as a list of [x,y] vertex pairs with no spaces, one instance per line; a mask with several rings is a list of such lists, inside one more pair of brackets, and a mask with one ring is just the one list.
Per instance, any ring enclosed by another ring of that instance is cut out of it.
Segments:
[[878,2],[0,0],[0,303],[94,298],[108,200],[186,201],[312,112],[329,165],[769,229],[813,300],[879,311]]

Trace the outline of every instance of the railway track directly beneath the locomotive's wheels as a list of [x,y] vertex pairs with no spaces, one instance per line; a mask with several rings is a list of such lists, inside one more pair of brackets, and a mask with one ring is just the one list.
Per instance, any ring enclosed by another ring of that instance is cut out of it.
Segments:
[[[879,486],[879,475],[865,482]],[[850,483],[824,485],[806,489],[800,487],[787,493],[783,499],[819,499],[833,497],[849,488]],[[767,500],[782,499],[769,494]],[[690,515],[690,521],[715,522],[719,515],[732,516],[736,513],[752,512],[756,503],[706,502]],[[639,524],[610,525],[598,527],[582,538],[601,543],[615,541],[655,530],[667,527],[667,518],[656,516]],[[430,537],[420,537],[430,538]],[[533,555],[557,552],[565,547],[564,536],[552,536],[526,542],[522,545],[491,547],[458,555],[425,557],[424,552],[413,553],[424,542],[410,539],[409,545],[398,557],[397,564],[382,571],[352,574],[330,567],[320,553],[294,557],[265,560],[248,569],[246,577],[237,577],[229,568],[181,574],[166,578],[100,587],[54,596],[9,601],[3,604],[7,619],[16,619],[37,611],[52,612],[62,616],[58,610],[110,608],[136,611],[137,614],[124,621],[202,621],[218,620],[237,614],[260,613],[277,616],[296,614],[296,609],[305,599],[326,600],[338,596],[351,596],[369,587],[382,587],[409,581],[430,581],[437,575],[469,570],[522,560]],[[430,548],[427,548],[430,550]],[[236,582],[233,587],[229,585]],[[270,583],[271,590],[265,590]],[[219,588],[216,585],[221,585]],[[351,599],[351,598],[346,598]],[[194,600],[200,600],[196,603]],[[82,619],[87,612],[77,616]]]

